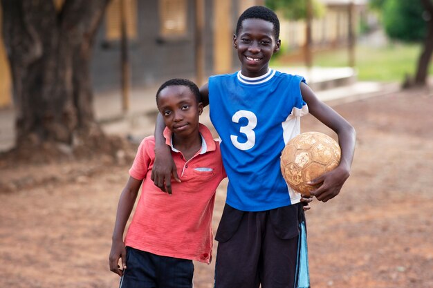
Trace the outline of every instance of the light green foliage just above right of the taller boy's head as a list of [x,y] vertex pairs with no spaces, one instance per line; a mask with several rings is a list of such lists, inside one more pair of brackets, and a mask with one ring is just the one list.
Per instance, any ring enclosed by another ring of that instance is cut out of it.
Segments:
[[[320,17],[324,14],[324,5],[317,0],[313,2],[313,17]],[[291,20],[306,18],[306,1],[305,0],[266,0],[266,7],[281,12],[283,17]]]

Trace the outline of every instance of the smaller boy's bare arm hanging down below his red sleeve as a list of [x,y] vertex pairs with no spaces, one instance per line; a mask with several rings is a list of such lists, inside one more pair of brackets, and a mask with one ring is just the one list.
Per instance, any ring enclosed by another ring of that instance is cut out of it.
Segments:
[[[122,276],[123,270],[127,268],[127,251],[125,243],[123,242],[123,233],[129,215],[131,215],[133,205],[136,202],[138,189],[140,189],[141,183],[142,180],[136,180],[133,177],[129,177],[127,185],[123,189],[122,194],[120,194],[109,256],[110,270],[119,276]],[[120,269],[118,265],[120,258],[122,258],[122,269]]]

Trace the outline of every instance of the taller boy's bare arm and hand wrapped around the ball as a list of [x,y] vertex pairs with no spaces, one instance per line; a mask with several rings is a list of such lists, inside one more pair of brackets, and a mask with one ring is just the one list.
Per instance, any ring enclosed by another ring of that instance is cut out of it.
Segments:
[[341,160],[337,168],[311,181],[311,184],[322,183],[311,195],[314,195],[317,200],[326,202],[340,193],[344,182],[350,175],[353,154],[355,153],[356,132],[346,119],[320,99],[317,99],[308,85],[301,83],[301,93],[311,115],[337,133],[338,144],[341,148]]

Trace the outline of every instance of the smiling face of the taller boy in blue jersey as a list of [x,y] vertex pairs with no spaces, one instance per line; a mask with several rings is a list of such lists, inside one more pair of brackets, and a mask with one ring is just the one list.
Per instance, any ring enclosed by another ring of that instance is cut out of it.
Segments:
[[233,46],[241,60],[241,73],[258,77],[268,72],[270,57],[279,50],[281,41],[275,39],[273,23],[263,19],[245,19],[233,36]]

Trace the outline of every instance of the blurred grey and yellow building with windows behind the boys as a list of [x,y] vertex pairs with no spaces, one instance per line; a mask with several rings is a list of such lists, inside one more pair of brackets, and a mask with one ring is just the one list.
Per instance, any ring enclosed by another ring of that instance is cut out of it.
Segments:
[[[54,0],[62,6],[64,0]],[[366,0],[321,0],[326,13],[313,20],[313,47],[347,43],[348,8],[360,22]],[[128,59],[132,88],[158,86],[172,77],[196,77],[196,3],[204,6],[203,74],[230,73],[238,67],[232,35],[241,12],[263,0],[112,0],[96,36],[91,75],[95,92],[121,87],[121,3],[125,9]],[[288,50],[304,45],[305,22],[282,19],[281,38]],[[1,28],[1,8],[0,8]],[[9,66],[0,37],[0,108],[12,104]]]

